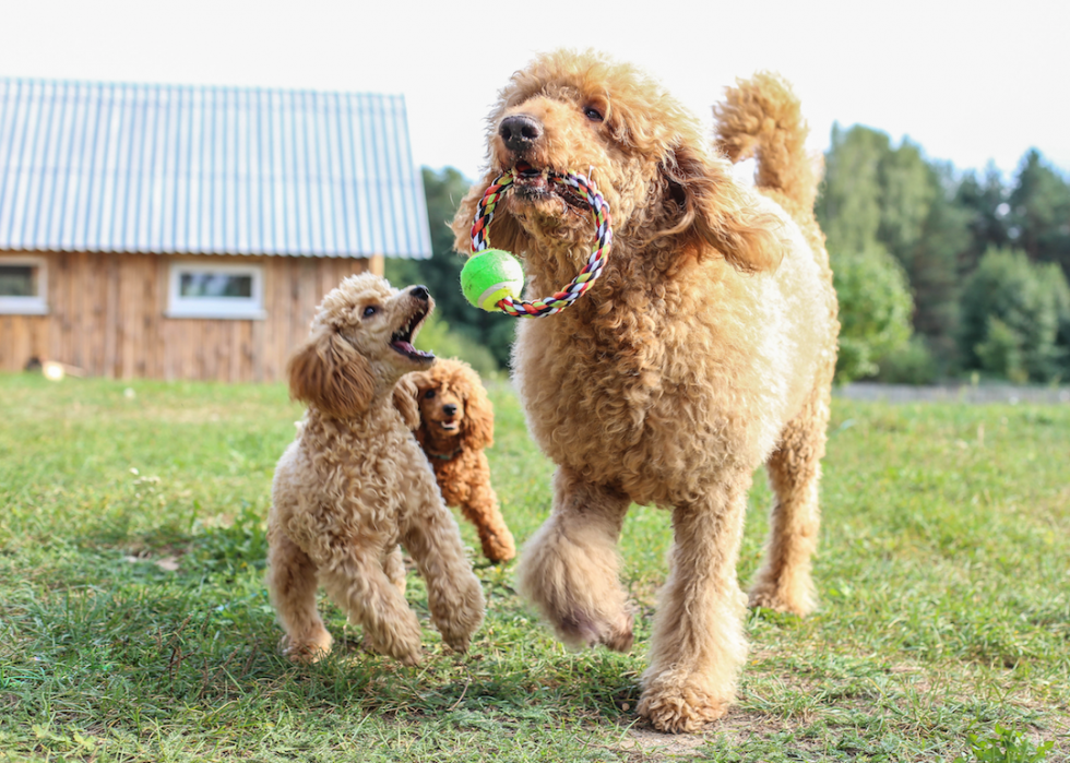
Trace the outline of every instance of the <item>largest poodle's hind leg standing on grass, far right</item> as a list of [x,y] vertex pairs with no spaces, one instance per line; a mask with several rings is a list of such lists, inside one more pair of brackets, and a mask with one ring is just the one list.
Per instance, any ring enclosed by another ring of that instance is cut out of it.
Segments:
[[750,587],[750,606],[808,615],[816,597],[810,557],[818,545],[818,484],[829,424],[828,386],[819,386],[781,436],[765,464],[776,493],[770,514],[765,562]]

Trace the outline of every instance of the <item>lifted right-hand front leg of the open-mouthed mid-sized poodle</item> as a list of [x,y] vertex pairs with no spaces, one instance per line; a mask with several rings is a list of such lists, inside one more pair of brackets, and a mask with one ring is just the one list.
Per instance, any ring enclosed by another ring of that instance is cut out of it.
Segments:
[[[430,473],[428,478],[433,479]],[[483,622],[483,588],[464,556],[461,529],[442,503],[438,486],[431,481],[425,492],[426,502],[409,513],[401,528],[401,541],[427,583],[427,606],[442,641],[456,652],[465,652]]]

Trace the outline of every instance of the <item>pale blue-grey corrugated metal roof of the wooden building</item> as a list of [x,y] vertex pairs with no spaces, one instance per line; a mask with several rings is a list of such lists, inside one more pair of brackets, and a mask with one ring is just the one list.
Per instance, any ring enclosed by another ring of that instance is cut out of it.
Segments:
[[0,249],[428,258],[404,97],[0,78]]

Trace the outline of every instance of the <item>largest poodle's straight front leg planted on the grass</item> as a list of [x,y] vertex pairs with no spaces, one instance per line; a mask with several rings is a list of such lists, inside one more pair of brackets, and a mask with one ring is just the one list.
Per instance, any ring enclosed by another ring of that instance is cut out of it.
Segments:
[[747,658],[736,559],[749,474],[673,511],[671,570],[662,591],[639,713],[662,731],[698,731],[724,715]]

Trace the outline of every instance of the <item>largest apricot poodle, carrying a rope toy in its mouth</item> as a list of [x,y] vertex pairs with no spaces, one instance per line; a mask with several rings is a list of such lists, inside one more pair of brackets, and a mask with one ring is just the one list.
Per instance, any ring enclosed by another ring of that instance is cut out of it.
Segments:
[[[521,321],[513,350],[531,432],[558,464],[552,512],[521,555],[521,588],[574,644],[628,649],[617,539],[632,502],[673,512],[675,543],[639,712],[667,731],[724,714],[747,643],[736,560],[752,472],[776,503],[751,606],[813,606],[836,357],[836,297],[813,217],[818,182],[798,100],[772,75],[730,90],[718,148],[635,69],[555,52],[512,76],[489,118],[489,167],[454,220],[471,249],[476,204],[502,170],[491,246],[521,254],[530,298],[568,284],[594,223],[546,171],[591,172],[613,211],[601,281],[557,315]],[[730,160],[757,152],[757,189]],[[528,165],[528,167],[524,167]]]

